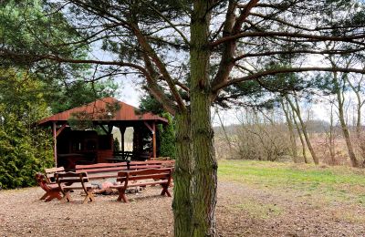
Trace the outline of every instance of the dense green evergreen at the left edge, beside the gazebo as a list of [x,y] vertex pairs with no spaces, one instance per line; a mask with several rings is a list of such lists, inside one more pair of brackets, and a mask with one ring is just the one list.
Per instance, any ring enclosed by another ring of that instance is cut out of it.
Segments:
[[36,122],[49,115],[42,82],[25,71],[0,70],[0,186],[35,184],[34,174],[52,165],[49,132]]

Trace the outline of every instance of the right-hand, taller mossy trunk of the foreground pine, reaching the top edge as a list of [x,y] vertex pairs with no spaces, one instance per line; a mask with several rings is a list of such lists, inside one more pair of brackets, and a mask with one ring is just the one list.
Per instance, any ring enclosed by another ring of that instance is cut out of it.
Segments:
[[191,119],[193,132],[193,235],[217,236],[217,162],[211,125],[209,24],[213,1],[194,1],[191,22]]

